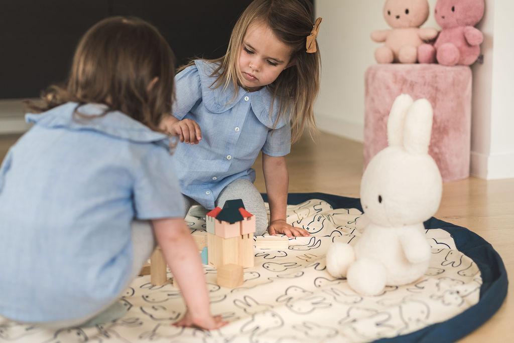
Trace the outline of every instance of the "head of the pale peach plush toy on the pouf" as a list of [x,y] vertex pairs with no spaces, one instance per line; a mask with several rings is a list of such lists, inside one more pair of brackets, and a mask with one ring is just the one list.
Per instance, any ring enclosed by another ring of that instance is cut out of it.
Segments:
[[427,21],[427,0],[387,0],[383,15],[393,28],[419,27]]

